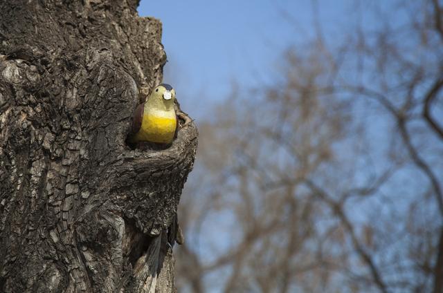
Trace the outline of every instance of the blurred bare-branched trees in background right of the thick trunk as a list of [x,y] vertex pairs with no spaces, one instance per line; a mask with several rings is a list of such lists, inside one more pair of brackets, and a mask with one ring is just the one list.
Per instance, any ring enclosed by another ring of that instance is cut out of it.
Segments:
[[390,2],[199,124],[179,292],[443,292],[443,5]]

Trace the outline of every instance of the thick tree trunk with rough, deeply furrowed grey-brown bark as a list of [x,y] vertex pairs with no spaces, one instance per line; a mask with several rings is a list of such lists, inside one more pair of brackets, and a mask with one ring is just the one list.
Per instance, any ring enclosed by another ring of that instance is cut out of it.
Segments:
[[161,82],[138,1],[0,3],[0,292],[173,292],[168,227],[197,129],[125,140]]

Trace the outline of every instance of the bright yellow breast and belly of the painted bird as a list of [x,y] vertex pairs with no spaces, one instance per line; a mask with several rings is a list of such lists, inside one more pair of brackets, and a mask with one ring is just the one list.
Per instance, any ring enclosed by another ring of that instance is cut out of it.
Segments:
[[175,111],[145,111],[135,140],[168,144],[174,139],[176,127]]

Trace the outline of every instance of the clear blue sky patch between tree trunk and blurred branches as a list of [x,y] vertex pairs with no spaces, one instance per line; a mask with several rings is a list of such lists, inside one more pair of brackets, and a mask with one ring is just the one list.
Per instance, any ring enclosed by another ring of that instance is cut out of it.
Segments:
[[[312,3],[142,0],[138,13],[163,22],[169,60],[164,82],[176,88],[183,110],[199,120],[210,104],[228,97],[234,80],[250,88],[278,75],[282,52],[314,34]],[[345,3],[320,1],[322,26],[343,19]]]

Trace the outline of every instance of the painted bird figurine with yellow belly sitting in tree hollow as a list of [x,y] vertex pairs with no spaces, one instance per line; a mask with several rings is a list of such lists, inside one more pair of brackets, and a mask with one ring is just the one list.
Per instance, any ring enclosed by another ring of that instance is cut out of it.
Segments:
[[159,84],[143,104],[137,106],[129,142],[170,144],[177,133],[174,108],[175,90],[170,84]]

